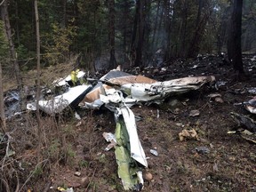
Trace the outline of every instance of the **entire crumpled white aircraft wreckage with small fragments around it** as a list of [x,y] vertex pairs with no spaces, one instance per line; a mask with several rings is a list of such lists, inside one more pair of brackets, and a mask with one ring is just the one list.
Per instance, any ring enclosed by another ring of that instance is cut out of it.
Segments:
[[[60,113],[65,108],[100,108],[105,105],[115,113],[115,135],[104,132],[103,137],[111,142],[105,150],[115,148],[118,176],[121,178],[124,189],[143,188],[143,179],[140,177],[141,169],[148,167],[147,158],[140,144],[137,133],[135,116],[129,107],[145,103],[162,103],[171,95],[182,94],[200,89],[204,84],[214,84],[214,76],[192,76],[170,81],[157,82],[146,76],[133,76],[119,70],[111,70],[99,80],[87,79],[90,84],[84,84],[84,72],[72,71],[66,78],[54,81],[52,90],[44,90],[39,108],[49,115]],[[81,79],[81,80],[80,80]],[[59,91],[56,94],[56,90]],[[30,110],[36,110],[36,102],[28,103]],[[199,116],[199,110],[193,110],[189,116]],[[159,118],[159,110],[156,110]],[[80,116],[76,118],[80,119]],[[81,123],[82,124],[82,123]],[[79,126],[76,124],[76,126]],[[197,133],[193,130],[183,130],[180,140],[196,139]],[[158,156],[156,150],[150,150]],[[139,164],[140,165],[139,165]],[[142,175],[142,173],[141,173]],[[78,176],[78,174],[77,174]],[[152,179],[151,179],[152,180]]]

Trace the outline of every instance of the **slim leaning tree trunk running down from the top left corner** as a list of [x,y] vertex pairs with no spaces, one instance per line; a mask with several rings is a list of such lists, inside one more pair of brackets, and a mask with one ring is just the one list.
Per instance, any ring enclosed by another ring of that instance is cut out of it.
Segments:
[[25,103],[26,101],[25,101],[25,95],[23,92],[23,84],[22,84],[22,79],[20,75],[20,66],[18,63],[17,53],[15,51],[15,47],[12,41],[12,28],[9,20],[7,4],[8,4],[8,1],[5,0],[1,6],[1,17],[2,17],[2,20],[4,20],[4,30],[8,39],[12,62],[13,62],[13,68],[14,68],[14,72],[15,72],[15,76],[18,84],[19,93],[20,93],[20,108],[21,110],[24,110],[26,108],[26,103]]

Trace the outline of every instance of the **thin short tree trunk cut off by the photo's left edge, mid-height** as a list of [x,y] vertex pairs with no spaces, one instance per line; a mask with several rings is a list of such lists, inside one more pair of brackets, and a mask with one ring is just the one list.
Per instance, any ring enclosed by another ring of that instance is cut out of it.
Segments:
[[4,88],[3,88],[3,73],[2,73],[2,63],[0,61],[0,116],[1,116],[1,124],[3,132],[6,132],[6,122],[5,122],[5,114],[4,114]]

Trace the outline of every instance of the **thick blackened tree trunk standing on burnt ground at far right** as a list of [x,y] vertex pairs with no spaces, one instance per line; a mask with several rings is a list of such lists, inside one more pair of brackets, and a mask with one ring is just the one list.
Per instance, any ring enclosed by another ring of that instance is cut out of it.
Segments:
[[243,0],[234,0],[228,37],[228,60],[238,75],[244,74],[241,50],[242,10]]

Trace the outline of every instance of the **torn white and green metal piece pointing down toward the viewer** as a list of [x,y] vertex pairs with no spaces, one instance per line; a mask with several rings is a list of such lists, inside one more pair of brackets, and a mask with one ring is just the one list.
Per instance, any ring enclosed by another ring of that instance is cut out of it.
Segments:
[[135,117],[132,110],[126,106],[116,108],[116,164],[118,176],[125,190],[140,191],[143,187],[141,166],[148,167],[148,162],[141,147],[137,134]]

